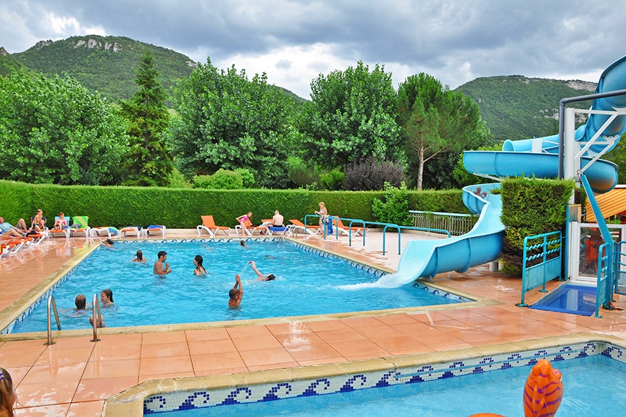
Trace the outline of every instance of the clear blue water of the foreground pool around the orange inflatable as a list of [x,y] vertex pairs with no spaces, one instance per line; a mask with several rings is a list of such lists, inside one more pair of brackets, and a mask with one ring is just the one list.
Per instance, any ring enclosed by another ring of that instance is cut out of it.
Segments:
[[[553,361],[563,374],[559,417],[625,416],[626,365],[602,355]],[[215,416],[523,416],[522,391],[530,366],[399,384],[346,393],[288,398],[252,404],[166,411],[161,417]]]

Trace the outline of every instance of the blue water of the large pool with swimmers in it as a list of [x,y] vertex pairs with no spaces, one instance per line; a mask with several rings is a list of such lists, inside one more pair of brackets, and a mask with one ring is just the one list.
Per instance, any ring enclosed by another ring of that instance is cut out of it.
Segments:
[[[132,262],[138,249],[146,263]],[[152,273],[157,252],[168,252],[173,272],[165,277]],[[204,258],[206,276],[193,275],[193,257]],[[248,261],[255,261],[274,281],[255,281]],[[239,309],[228,308],[228,291],[235,274],[241,275],[243,301]],[[380,272],[378,273],[380,275]],[[396,309],[449,304],[458,297],[433,295],[423,288],[346,288],[345,285],[374,282],[378,276],[355,268],[335,256],[305,251],[288,241],[239,240],[118,242],[113,248],[99,247],[55,289],[61,311],[61,327],[89,327],[89,311],[76,311],[74,297],[87,301],[104,288],[113,291],[113,306],[103,306],[106,327],[129,327],[186,322],[214,322],[284,316],[303,316],[346,311]],[[36,307],[12,332],[40,332],[47,327],[46,303]]]

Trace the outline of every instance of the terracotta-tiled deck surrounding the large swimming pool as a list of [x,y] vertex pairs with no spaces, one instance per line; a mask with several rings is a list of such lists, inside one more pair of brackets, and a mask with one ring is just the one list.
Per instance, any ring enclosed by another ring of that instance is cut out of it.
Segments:
[[[233,232],[234,235],[234,232]],[[296,240],[379,268],[395,270],[396,234],[382,254],[382,234],[339,240],[303,236]],[[195,230],[170,230],[168,239],[196,238]],[[389,237],[389,236],[388,236]],[[420,234],[402,234],[403,245]],[[159,239],[151,237],[151,240]],[[67,268],[102,239],[51,238],[0,259],[0,315],[26,304],[42,282]],[[394,240],[394,241],[392,241]],[[476,302],[376,313],[267,319],[236,323],[102,329],[28,340],[0,335],[0,367],[16,385],[16,416],[100,416],[111,395],[151,379],[236,375],[363,359],[403,357],[454,350],[497,350],[497,344],[571,334],[604,334],[626,340],[626,312],[602,311],[602,319],[524,309],[520,279],[490,272],[489,265],[460,274],[438,275],[435,285],[470,295]],[[559,283],[549,283],[549,289]],[[531,291],[531,304],[543,294]],[[245,308],[246,298],[243,299]],[[626,297],[614,303],[626,309]],[[67,336],[66,335],[70,335]]]

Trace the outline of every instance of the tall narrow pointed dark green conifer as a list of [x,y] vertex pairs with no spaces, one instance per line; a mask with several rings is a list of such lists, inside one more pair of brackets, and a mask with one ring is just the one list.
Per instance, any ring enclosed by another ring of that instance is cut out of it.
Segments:
[[120,101],[120,114],[127,120],[130,148],[125,158],[128,185],[167,186],[172,159],[164,138],[169,114],[166,93],[154,69],[150,49],[141,56],[135,82],[139,90],[129,100]]

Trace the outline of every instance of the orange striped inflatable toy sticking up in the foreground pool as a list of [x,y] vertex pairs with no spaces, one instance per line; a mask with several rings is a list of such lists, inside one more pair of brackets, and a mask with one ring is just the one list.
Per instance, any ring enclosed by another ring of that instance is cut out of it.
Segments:
[[524,386],[524,416],[554,417],[563,400],[563,381],[547,359],[533,366]]

